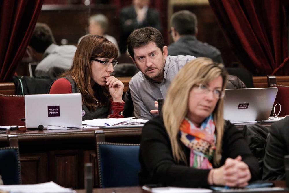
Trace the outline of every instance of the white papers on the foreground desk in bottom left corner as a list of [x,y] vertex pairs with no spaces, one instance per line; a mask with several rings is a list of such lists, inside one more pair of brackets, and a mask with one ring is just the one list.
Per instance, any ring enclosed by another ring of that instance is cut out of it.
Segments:
[[64,188],[53,181],[32,185],[0,185],[0,190],[10,193],[75,193],[75,190]]

